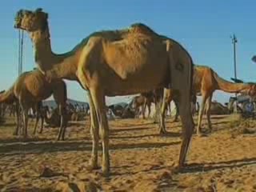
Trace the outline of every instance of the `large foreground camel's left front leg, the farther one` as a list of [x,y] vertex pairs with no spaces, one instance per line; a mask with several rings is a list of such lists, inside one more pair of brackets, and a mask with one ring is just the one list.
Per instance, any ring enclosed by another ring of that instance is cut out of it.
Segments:
[[97,114],[94,106],[93,99],[90,92],[88,93],[89,103],[90,103],[90,134],[93,141],[93,147],[90,159],[90,168],[92,170],[98,169],[98,120]]

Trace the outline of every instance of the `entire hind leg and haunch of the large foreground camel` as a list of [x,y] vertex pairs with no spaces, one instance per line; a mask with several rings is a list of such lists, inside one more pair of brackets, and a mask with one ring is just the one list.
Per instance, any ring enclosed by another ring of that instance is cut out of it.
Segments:
[[170,88],[178,90],[179,113],[182,121],[182,146],[178,159],[178,166],[184,166],[186,154],[194,130],[191,114],[191,93],[193,81],[193,62],[190,55],[182,46],[167,42],[166,50],[170,62]]

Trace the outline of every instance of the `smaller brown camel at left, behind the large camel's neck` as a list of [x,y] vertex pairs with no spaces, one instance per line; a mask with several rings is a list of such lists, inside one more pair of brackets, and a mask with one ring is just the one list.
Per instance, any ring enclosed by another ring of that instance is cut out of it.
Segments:
[[[29,72],[22,73],[18,77],[16,82],[14,82],[14,85],[10,87],[10,90],[7,90],[6,94],[2,95],[3,100],[6,100],[7,102],[8,99],[10,99],[10,102],[14,102],[15,100],[17,100],[19,106],[21,106],[25,138],[27,137],[28,110],[30,110],[30,108],[34,108],[36,111],[38,111],[37,119],[34,126],[35,134],[38,126],[38,118],[40,115],[40,102],[42,102],[42,100],[46,98],[49,98],[52,94],[62,114],[62,124],[60,126],[58,140],[61,138],[63,140],[66,127],[66,125],[64,125],[64,116],[66,108],[65,82],[58,79],[52,82],[47,82],[45,76],[42,74],[40,70],[32,70]],[[19,110],[17,110],[17,113],[19,114]],[[20,115],[17,116],[17,121],[19,122]],[[17,128],[18,127],[19,126],[17,126]],[[15,134],[18,134],[18,130],[16,130]]]

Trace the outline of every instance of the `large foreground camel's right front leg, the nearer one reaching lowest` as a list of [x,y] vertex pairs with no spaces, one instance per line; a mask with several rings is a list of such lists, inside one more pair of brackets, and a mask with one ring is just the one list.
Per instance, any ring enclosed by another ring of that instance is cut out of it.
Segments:
[[110,154],[109,154],[109,125],[106,118],[105,96],[100,89],[90,90],[97,114],[98,126],[102,138],[102,174],[110,174]]

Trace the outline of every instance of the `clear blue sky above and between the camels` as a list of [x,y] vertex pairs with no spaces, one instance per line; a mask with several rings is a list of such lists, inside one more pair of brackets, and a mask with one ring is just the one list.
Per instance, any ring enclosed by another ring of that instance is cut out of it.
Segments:
[[[159,3],[161,2],[161,4]],[[194,62],[212,67],[221,77],[234,76],[230,35],[238,38],[238,78],[256,82],[256,1],[172,1],[101,0],[37,1],[2,0],[0,6],[0,90],[7,89],[18,76],[18,31],[14,15],[19,9],[42,7],[49,14],[52,49],[71,50],[96,30],[115,30],[144,22],[159,34],[174,38],[190,52]],[[34,67],[34,53],[25,35],[24,70]],[[70,98],[84,101],[86,93],[78,83],[68,82]],[[226,102],[228,94],[215,92],[214,99]],[[125,98],[107,98],[118,102]]]

